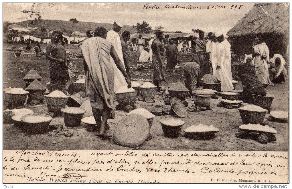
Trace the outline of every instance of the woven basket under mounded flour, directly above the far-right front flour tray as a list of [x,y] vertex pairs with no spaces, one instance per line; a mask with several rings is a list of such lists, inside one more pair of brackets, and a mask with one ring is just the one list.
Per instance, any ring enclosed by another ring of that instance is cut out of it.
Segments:
[[238,110],[239,110],[239,114],[240,114],[240,117],[241,117],[241,121],[244,124],[248,124],[248,123],[251,123],[251,124],[263,123],[263,121],[265,119],[265,116],[266,116],[266,113],[267,113],[267,111],[265,111],[265,112],[252,112],[252,111],[243,110],[243,109],[238,109]]

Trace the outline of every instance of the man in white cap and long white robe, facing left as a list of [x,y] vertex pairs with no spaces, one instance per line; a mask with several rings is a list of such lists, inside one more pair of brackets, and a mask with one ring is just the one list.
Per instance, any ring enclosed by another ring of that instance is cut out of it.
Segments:
[[221,91],[229,91],[234,89],[232,85],[231,73],[231,52],[230,43],[224,38],[222,31],[217,31],[215,37],[218,41],[217,46],[217,63],[218,80],[221,81]]

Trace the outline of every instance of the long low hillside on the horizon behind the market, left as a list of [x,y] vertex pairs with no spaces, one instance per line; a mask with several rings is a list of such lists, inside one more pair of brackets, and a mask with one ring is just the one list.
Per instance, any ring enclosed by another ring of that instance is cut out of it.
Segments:
[[[26,27],[28,21],[18,22],[17,24]],[[41,21],[34,21],[32,24],[29,24],[29,27],[44,27],[48,30],[60,30],[63,33],[68,33],[69,31],[74,31],[74,28],[72,27],[73,23],[69,21],[64,20],[41,20]],[[81,33],[86,33],[88,29],[95,30],[97,27],[105,27],[107,31],[109,31],[112,28],[112,24],[107,23],[96,23],[96,22],[78,22],[75,24],[75,30],[80,31]],[[123,31],[128,30],[131,32],[131,34],[136,33],[133,26],[127,26],[124,25],[123,28],[119,33],[122,33]]]

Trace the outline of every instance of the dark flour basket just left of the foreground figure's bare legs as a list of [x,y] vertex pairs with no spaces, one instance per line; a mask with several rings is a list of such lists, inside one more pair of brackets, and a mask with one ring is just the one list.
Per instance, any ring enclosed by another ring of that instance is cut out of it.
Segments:
[[76,108],[82,110],[82,113],[68,113],[64,112],[66,108],[62,108],[61,112],[64,116],[64,123],[66,127],[77,127],[81,123],[82,116],[85,114],[85,110],[81,108]]

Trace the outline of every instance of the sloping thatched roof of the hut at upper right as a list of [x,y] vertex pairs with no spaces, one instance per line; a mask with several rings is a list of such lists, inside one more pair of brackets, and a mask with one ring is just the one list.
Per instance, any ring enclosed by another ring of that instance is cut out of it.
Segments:
[[228,36],[258,33],[289,33],[287,3],[257,3],[230,31]]

